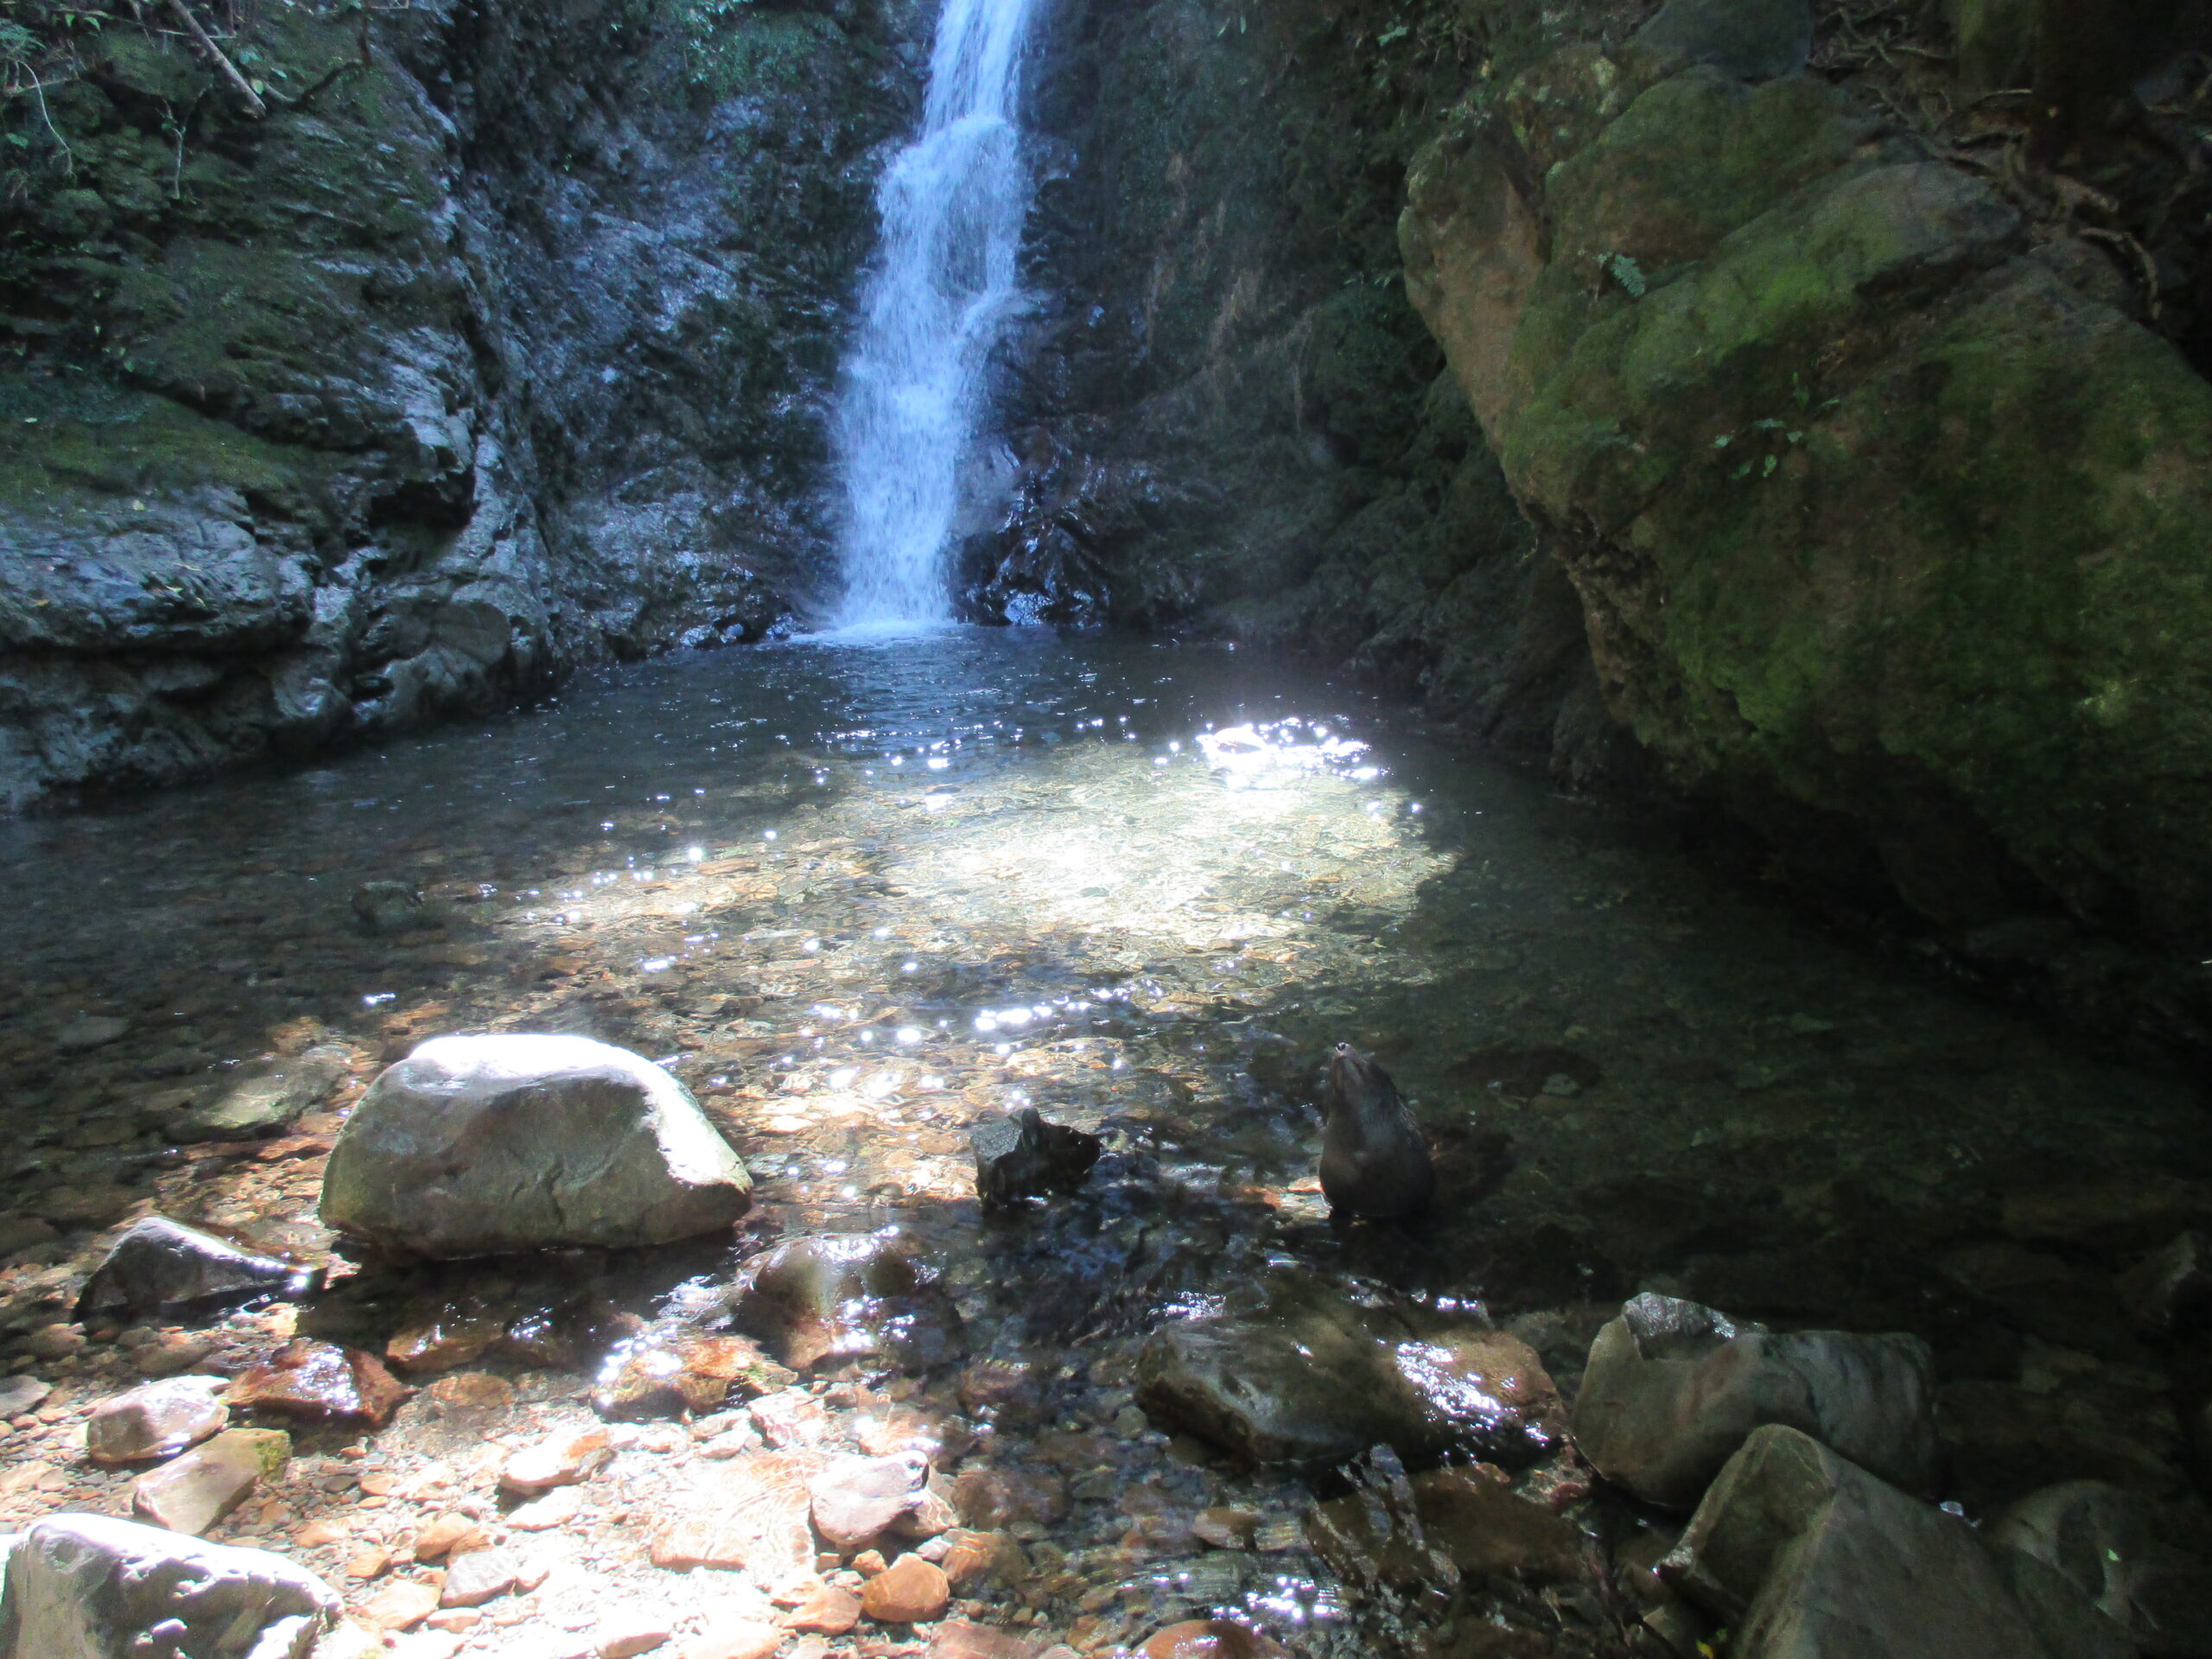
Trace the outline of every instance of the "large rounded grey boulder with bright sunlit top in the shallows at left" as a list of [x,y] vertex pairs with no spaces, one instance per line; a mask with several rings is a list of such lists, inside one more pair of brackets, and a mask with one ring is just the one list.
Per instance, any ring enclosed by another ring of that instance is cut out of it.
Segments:
[[361,1097],[323,1223],[418,1256],[717,1232],[752,1181],[675,1077],[588,1037],[434,1037]]

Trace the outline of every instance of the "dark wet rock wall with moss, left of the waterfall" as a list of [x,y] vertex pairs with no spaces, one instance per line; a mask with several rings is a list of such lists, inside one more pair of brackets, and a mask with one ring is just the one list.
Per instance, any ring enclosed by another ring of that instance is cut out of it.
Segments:
[[772,626],[922,22],[263,7],[263,119],[88,35],[7,115],[0,810]]

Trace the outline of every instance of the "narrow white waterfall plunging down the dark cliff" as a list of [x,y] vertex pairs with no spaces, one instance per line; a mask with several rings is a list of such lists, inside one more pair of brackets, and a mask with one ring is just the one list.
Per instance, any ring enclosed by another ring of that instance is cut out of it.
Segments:
[[878,188],[883,241],[832,422],[845,626],[951,615],[960,471],[984,420],[984,361],[1020,303],[1015,106],[1035,4],[945,0],[922,131]]

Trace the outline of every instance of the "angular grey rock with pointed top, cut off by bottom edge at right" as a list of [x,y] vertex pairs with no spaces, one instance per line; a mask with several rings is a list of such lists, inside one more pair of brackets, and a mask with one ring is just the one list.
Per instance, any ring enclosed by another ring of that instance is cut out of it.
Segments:
[[1743,1659],[2044,1657],[1966,1522],[1781,1425],[1728,1460],[1661,1573]]

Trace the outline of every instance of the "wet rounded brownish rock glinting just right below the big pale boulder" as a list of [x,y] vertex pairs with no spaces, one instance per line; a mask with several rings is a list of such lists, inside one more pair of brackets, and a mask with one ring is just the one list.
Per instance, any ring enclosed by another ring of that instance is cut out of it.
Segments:
[[958,1321],[898,1239],[787,1239],[739,1272],[732,1307],[794,1371],[838,1365],[929,1369],[951,1356]]

